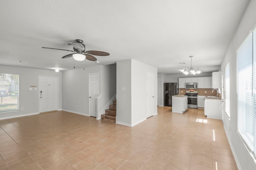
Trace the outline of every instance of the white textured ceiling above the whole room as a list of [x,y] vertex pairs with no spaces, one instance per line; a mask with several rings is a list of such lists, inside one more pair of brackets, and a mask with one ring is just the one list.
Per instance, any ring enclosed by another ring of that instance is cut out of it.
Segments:
[[[65,43],[105,51],[99,64],[134,59],[180,74],[217,71],[249,0],[1,0],[0,65],[60,70],[95,66],[62,59]],[[23,62],[17,62],[23,61]],[[179,63],[186,64],[179,64]]]

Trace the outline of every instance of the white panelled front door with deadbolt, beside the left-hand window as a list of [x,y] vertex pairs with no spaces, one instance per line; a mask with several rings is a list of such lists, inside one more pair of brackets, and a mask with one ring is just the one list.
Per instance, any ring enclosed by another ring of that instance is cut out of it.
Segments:
[[39,112],[58,109],[58,78],[39,76]]

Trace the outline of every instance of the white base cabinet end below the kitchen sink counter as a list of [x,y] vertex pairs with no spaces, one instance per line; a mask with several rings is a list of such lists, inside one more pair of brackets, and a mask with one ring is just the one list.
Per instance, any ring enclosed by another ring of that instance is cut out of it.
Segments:
[[204,115],[206,115],[207,118],[221,119],[222,118],[221,104],[222,102],[220,99],[205,98]]

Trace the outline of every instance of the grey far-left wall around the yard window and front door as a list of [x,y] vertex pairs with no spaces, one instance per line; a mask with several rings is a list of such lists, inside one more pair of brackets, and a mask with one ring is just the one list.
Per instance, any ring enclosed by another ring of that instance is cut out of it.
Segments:
[[0,73],[19,74],[19,108],[24,110],[11,111],[0,113],[0,119],[19,117],[24,115],[39,113],[39,92],[38,90],[29,90],[30,86],[39,85],[39,76],[53,76],[58,77],[58,109],[62,109],[62,72],[55,72],[54,70],[41,70],[33,68],[23,68],[14,66],[0,65]]

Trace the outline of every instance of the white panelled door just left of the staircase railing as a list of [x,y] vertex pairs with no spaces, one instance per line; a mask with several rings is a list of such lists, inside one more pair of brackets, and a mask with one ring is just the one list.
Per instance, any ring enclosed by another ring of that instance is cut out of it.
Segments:
[[97,117],[97,101],[99,94],[99,73],[89,74],[89,115]]

